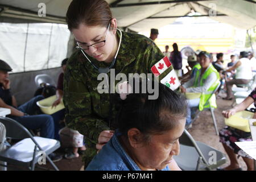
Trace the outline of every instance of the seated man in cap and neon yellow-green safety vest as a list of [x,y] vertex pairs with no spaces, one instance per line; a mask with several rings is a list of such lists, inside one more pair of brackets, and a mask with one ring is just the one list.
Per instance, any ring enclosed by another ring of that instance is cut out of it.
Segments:
[[[198,107],[199,110],[204,109],[204,105],[211,96],[211,93],[218,85],[220,80],[220,75],[217,70],[210,63],[210,54],[205,51],[199,53],[199,63],[201,68],[196,72],[194,76],[188,82],[180,86],[181,92],[192,92],[192,93],[201,93],[200,98],[195,98],[188,100],[188,115],[186,120],[186,127],[189,128],[192,126],[191,119],[191,108]],[[217,107],[216,97],[213,95],[209,100],[210,106]]]

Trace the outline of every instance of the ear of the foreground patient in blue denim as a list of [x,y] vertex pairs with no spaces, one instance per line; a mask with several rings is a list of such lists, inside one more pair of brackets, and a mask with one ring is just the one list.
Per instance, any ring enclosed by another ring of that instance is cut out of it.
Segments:
[[132,147],[138,148],[142,146],[142,133],[137,128],[131,128],[128,130],[127,137]]

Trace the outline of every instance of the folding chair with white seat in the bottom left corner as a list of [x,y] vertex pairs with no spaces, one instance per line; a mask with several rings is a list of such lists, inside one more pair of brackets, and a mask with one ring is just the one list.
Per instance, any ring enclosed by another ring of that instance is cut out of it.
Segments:
[[28,169],[34,171],[35,164],[38,163],[41,157],[41,151],[52,167],[59,171],[48,156],[60,147],[58,140],[33,137],[26,127],[11,118],[0,117],[0,123],[3,123],[6,127],[6,138],[20,139],[18,143],[0,151],[0,161],[7,162],[7,165],[0,164],[1,166],[7,167],[8,164],[13,164],[14,166],[28,167]]

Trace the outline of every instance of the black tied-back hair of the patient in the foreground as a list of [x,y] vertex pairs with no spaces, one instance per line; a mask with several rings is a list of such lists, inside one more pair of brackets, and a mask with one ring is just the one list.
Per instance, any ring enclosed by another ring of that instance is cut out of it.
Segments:
[[[141,82],[140,82],[140,90]],[[174,129],[179,119],[187,115],[187,101],[184,96],[175,93],[163,84],[159,84],[159,97],[148,100],[147,93],[129,94],[121,100],[121,109],[117,114],[119,131],[127,137],[127,131],[137,128],[143,134],[143,141],[148,142],[150,135],[163,134]]]

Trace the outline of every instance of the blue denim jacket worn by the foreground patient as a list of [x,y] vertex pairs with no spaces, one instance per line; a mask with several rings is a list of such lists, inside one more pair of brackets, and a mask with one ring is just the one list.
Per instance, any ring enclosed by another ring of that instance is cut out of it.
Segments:
[[[118,141],[121,133],[115,130],[113,137],[94,156],[86,171],[141,171],[133,159],[125,152]],[[162,171],[169,171],[168,166]]]

